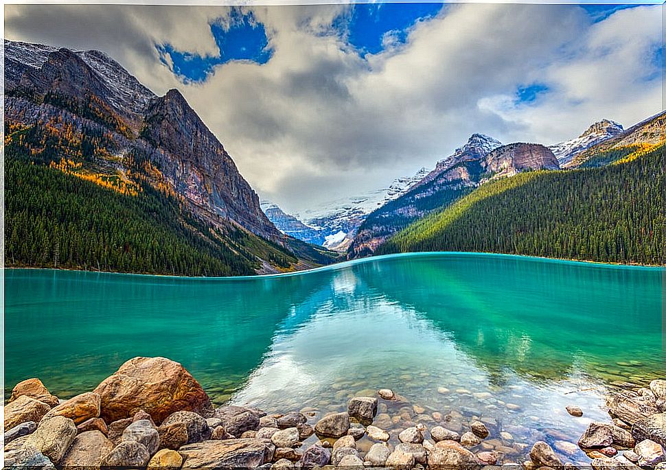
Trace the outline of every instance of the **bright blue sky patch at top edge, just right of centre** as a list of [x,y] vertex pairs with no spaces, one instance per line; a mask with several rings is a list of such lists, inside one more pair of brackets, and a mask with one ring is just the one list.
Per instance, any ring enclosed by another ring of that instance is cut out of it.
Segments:
[[384,34],[391,33],[404,43],[409,28],[420,19],[435,16],[442,3],[357,3],[334,25],[346,32],[347,40],[362,54],[377,54],[384,49]]

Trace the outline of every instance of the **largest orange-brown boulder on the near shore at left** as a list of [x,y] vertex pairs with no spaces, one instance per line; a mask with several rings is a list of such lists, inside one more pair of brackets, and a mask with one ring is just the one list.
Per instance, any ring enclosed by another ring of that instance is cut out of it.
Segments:
[[144,410],[156,423],[176,411],[211,412],[211,402],[181,364],[165,357],[135,357],[93,390],[107,423]]

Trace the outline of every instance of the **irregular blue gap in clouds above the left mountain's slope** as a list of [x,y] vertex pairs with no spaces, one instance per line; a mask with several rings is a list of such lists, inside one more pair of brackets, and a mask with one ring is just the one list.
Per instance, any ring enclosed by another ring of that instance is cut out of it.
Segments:
[[273,51],[268,49],[268,38],[262,23],[258,23],[252,13],[243,14],[239,8],[231,8],[229,21],[210,25],[215,43],[220,49],[218,56],[199,56],[187,51],[174,49],[170,44],[155,45],[160,60],[169,64],[171,59],[173,72],[184,82],[203,82],[213,73],[217,65],[232,60],[252,60],[265,64]]

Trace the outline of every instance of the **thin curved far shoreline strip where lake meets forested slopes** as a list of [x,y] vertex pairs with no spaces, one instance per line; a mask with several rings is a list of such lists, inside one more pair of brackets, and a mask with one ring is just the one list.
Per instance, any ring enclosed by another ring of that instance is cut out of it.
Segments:
[[205,279],[205,280],[242,280],[242,279],[275,279],[279,277],[293,277],[300,276],[301,274],[310,274],[314,272],[334,271],[344,269],[356,264],[363,264],[372,261],[382,261],[384,259],[392,259],[399,257],[422,257],[422,256],[487,256],[487,257],[510,257],[526,259],[528,261],[551,261],[558,263],[574,263],[581,266],[601,266],[604,268],[630,268],[630,269],[647,269],[647,270],[666,270],[666,265],[645,265],[639,263],[610,263],[605,261],[593,261],[588,259],[566,259],[566,258],[550,258],[534,255],[515,255],[513,253],[493,253],[493,252],[476,252],[476,251],[417,251],[406,253],[393,253],[391,255],[370,256],[365,258],[350,259],[346,261],[339,261],[317,268],[309,268],[305,270],[297,270],[290,272],[276,272],[271,274],[255,274],[251,276],[181,276],[179,274],[150,274],[142,272],[121,272],[121,271],[104,271],[104,270],[82,270],[76,268],[38,268],[36,266],[3,266],[3,270],[44,270],[44,271],[72,271],[72,272],[91,272],[97,274],[122,274],[125,276],[144,276],[144,277],[163,277],[168,279]]

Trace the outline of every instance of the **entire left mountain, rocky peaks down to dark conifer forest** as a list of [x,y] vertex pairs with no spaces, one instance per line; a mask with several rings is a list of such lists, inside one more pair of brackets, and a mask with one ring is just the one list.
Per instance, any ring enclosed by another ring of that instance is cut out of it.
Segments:
[[15,266],[227,275],[332,259],[277,230],[179,91],[154,95],[100,51],[5,40],[5,156]]

